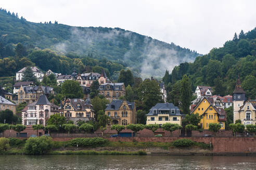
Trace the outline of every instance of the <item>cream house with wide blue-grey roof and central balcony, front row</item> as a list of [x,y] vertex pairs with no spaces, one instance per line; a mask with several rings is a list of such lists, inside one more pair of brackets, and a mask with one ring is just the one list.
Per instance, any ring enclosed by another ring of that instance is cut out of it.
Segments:
[[158,103],[153,106],[147,116],[147,124],[175,123],[182,125],[180,109],[172,103]]

